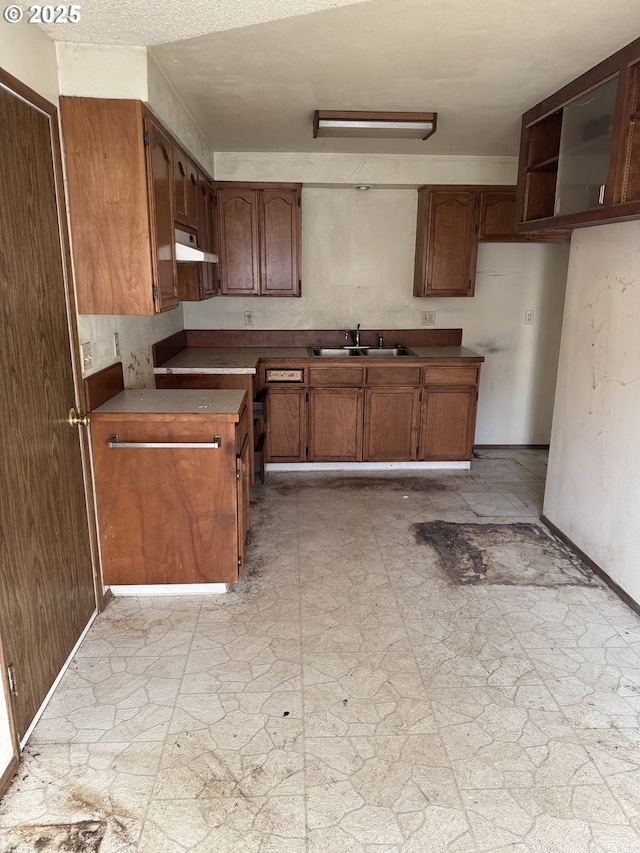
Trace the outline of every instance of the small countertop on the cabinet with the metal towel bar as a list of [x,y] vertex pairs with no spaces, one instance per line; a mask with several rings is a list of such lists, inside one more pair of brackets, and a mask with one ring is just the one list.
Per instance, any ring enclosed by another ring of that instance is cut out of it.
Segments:
[[245,391],[156,389],[121,391],[91,412],[111,414],[231,415],[237,419]]

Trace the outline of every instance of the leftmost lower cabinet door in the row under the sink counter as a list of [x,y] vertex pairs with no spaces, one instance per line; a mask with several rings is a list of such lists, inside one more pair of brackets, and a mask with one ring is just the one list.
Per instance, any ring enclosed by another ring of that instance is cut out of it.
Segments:
[[266,400],[267,461],[304,462],[307,450],[306,392],[270,388]]

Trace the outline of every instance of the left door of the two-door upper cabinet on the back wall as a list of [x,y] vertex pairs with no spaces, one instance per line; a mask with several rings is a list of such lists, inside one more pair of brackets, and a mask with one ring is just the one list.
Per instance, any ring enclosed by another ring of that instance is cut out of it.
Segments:
[[251,296],[260,291],[258,191],[218,190],[221,293]]

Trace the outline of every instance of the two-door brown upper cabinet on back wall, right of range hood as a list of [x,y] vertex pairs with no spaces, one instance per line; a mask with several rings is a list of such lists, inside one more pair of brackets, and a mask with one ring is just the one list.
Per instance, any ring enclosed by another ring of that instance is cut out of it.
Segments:
[[300,296],[300,184],[216,184],[223,296]]

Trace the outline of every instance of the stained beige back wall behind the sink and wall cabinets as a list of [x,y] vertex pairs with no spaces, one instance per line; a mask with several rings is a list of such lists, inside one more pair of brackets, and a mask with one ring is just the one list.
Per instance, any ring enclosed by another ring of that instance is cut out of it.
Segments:
[[[282,167],[280,155],[249,158],[247,173],[257,178],[256,162],[266,159],[269,179],[304,179],[305,173]],[[309,159],[309,158],[305,158]],[[311,174],[321,177],[314,156]],[[513,180],[514,161],[495,158],[460,162],[460,158],[352,158],[350,174],[368,169],[378,183],[403,183],[429,175],[438,183]],[[417,159],[418,162],[414,162]],[[218,166],[226,162],[217,157]],[[344,158],[329,158],[326,175],[335,179]],[[345,170],[346,171],[346,170]],[[230,178],[218,171],[218,177]],[[186,328],[244,328],[244,312],[257,328],[304,329],[416,328],[422,311],[436,311],[440,328],[461,327],[463,343],[485,356],[482,368],[476,441],[480,444],[544,444],[549,440],[562,305],[569,250],[567,246],[485,244],[480,246],[473,299],[417,299],[412,295],[417,193],[411,189],[305,187],[302,190],[301,299],[219,298],[185,303]],[[527,309],[536,323],[524,325]]]

